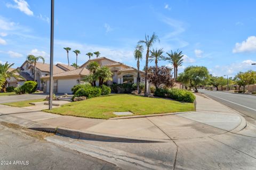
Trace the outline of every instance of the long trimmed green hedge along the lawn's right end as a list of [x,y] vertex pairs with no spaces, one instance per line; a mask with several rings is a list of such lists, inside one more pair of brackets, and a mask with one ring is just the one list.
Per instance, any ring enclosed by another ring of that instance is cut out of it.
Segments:
[[189,103],[193,103],[196,99],[196,96],[192,92],[178,88],[172,88],[170,90],[167,88],[157,88],[154,95]]

